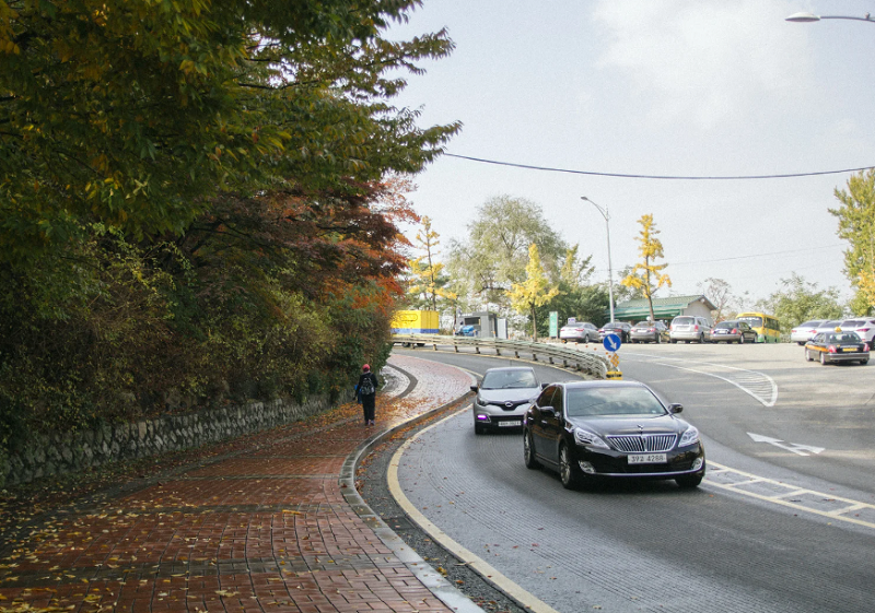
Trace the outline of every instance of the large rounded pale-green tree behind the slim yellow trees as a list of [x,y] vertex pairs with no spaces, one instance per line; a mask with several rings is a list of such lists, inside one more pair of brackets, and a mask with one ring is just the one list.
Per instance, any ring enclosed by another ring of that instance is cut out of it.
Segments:
[[477,209],[468,235],[450,244],[447,269],[482,302],[508,308],[508,291],[526,276],[528,249],[537,245],[546,273],[557,279],[567,244],[526,199],[499,196]]

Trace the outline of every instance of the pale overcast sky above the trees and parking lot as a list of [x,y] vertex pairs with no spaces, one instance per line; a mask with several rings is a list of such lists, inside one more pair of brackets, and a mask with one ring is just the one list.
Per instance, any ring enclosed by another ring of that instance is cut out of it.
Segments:
[[[456,49],[410,76],[399,104],[421,107],[422,126],[460,120],[448,153],[515,164],[672,176],[875,166],[875,22],[784,21],[798,11],[862,17],[875,1],[424,0],[392,37],[446,27]],[[581,196],[609,208],[615,274],[637,261],[637,221],[652,213],[672,294],[710,276],[752,303],[793,272],[850,296],[828,212],[849,176],[650,180],[442,157],[410,199],[444,247],[490,197],[532,200],[593,256],[594,280],[607,279],[605,222]]]

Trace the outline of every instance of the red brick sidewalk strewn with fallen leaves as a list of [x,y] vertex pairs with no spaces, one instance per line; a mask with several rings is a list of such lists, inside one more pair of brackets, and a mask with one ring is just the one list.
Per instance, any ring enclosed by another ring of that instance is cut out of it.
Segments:
[[[345,460],[370,437],[468,391],[467,375],[389,361],[377,426],[355,404],[266,433],[95,508],[44,521],[0,558],[0,612],[448,612],[343,497]],[[410,386],[416,387],[410,389]],[[350,419],[352,416],[352,419]]]

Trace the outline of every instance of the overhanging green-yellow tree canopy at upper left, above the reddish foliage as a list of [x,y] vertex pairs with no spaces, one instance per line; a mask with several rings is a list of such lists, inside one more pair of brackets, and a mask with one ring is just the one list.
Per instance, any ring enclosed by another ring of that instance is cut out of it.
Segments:
[[0,262],[92,224],[178,235],[228,192],[362,194],[457,125],[387,99],[444,32],[384,38],[418,0],[0,0]]

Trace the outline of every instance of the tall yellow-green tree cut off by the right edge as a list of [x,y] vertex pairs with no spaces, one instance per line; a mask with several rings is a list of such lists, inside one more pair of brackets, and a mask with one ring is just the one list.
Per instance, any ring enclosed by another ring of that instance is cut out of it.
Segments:
[[856,315],[875,311],[875,169],[848,179],[848,189],[836,189],[841,202],[830,209],[839,220],[839,237],[850,243],[844,251],[844,274],[856,288],[851,309]]

